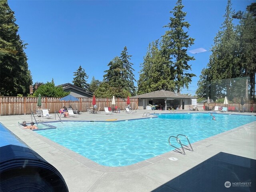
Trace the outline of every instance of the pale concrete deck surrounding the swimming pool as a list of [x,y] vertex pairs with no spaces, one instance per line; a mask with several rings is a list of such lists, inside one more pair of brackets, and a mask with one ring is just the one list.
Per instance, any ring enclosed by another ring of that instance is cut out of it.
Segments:
[[[145,112],[170,113],[169,111],[152,110],[137,110],[132,114],[120,112],[120,114],[112,115],[104,115],[103,112],[99,114],[83,112],[79,117],[62,118],[62,120],[129,120],[142,118]],[[196,111],[182,110],[177,112],[192,113]],[[222,114],[222,112],[218,113]],[[255,113],[226,113],[256,115]],[[54,114],[51,115],[54,117]],[[194,152],[186,150],[186,155],[172,151],[130,166],[106,167],[64,148],[36,132],[18,126],[18,122],[21,123],[24,120],[31,122],[32,119],[30,115],[0,116],[0,122],[4,126],[60,171],[70,192],[174,191],[168,186],[170,180],[219,152],[256,159],[255,122],[195,142],[192,144]],[[56,121],[55,118],[45,120],[40,117],[37,117],[36,120],[42,120],[43,122]],[[171,157],[178,160],[169,160]]]

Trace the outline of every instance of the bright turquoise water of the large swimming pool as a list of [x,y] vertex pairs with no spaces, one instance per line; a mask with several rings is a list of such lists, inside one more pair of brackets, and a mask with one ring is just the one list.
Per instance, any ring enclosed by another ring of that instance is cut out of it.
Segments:
[[256,121],[256,116],[161,114],[121,122],[55,122],[37,131],[54,142],[104,166],[127,166],[174,150],[169,136],[185,134],[191,143]]

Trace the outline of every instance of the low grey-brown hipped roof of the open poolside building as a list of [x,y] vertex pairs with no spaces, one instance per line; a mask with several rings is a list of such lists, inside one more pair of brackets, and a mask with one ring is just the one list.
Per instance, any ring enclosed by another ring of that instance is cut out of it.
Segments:
[[131,98],[179,98],[179,99],[196,99],[197,97],[188,96],[180,93],[174,93],[166,90],[158,90],[150,93],[136,95]]

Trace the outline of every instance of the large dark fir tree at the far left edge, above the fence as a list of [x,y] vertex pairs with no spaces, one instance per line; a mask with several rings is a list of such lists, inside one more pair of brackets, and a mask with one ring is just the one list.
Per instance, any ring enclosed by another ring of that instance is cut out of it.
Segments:
[[29,93],[32,76],[20,39],[14,12],[7,0],[0,1],[0,96]]

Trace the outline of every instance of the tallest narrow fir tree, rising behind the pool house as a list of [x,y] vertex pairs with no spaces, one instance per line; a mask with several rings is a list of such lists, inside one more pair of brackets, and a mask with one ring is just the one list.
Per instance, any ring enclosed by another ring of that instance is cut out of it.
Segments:
[[194,44],[194,39],[188,35],[190,24],[185,20],[186,12],[183,12],[182,0],[176,2],[176,6],[170,13],[170,22],[164,26],[168,28],[162,36],[162,54],[168,59],[168,65],[171,66],[172,74],[174,75],[176,90],[180,92],[182,88],[188,88],[192,82],[192,77],[196,76],[189,73],[192,70],[188,64],[194,57],[188,56],[187,49]]

